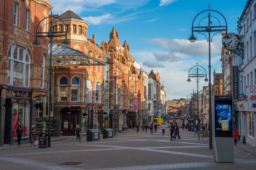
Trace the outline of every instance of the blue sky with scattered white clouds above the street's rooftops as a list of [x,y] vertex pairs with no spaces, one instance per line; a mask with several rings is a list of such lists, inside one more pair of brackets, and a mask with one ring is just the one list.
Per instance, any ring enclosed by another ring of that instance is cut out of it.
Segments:
[[[195,43],[187,40],[196,15],[208,10],[210,4],[211,10],[219,11],[226,18],[228,32],[236,32],[237,17],[245,3],[246,0],[50,0],[53,14],[60,15],[70,9],[83,18],[89,24],[88,38],[95,34],[97,44],[108,41],[115,26],[120,43],[127,40],[130,53],[141,67],[147,72],[151,69],[159,72],[166,86],[167,100],[187,98],[196,90],[194,79],[190,83],[186,81],[189,69],[196,63],[206,69],[208,76],[206,38],[196,35]],[[217,14],[211,14],[221,20]],[[216,34],[211,43],[212,75],[214,69],[221,73],[220,55],[221,35]],[[201,79],[199,90],[203,86],[208,83]]]

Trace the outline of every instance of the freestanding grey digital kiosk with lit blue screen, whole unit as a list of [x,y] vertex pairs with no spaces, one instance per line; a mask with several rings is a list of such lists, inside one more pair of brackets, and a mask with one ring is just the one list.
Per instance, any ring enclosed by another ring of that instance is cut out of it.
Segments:
[[234,162],[232,96],[212,96],[212,146],[215,162]]

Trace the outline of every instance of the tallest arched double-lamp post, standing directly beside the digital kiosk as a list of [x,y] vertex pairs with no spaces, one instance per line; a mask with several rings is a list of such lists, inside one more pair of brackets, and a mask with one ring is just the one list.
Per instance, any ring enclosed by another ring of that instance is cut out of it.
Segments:
[[[227,26],[227,21],[226,21],[226,18],[218,11],[215,11],[215,10],[210,10],[210,4],[208,5],[209,7],[209,10],[205,10],[205,11],[202,11],[200,13],[198,13],[196,15],[196,17],[194,18],[193,22],[192,22],[192,34],[189,36],[188,40],[190,42],[195,42],[196,41],[196,35],[194,35],[194,32],[197,32],[198,34],[201,33],[203,34],[206,39],[207,39],[207,42],[209,43],[209,133],[210,133],[210,137],[209,137],[209,149],[212,149],[212,100],[211,100],[211,32],[215,32],[213,35],[212,35],[212,38],[213,36],[218,33],[218,32],[222,32],[222,31],[225,31],[226,33],[228,33],[228,26]],[[206,12],[209,12],[208,13],[208,16],[204,16],[203,18],[199,19],[199,22],[196,23],[195,25],[197,26],[194,26],[194,22],[196,20],[196,18],[202,14],[202,13],[206,13]],[[225,24],[224,25],[221,25],[220,24],[220,20],[214,16],[212,16],[210,14],[210,12],[215,12],[216,14],[218,15],[221,15],[221,17],[225,20]],[[208,17],[208,18],[207,18]],[[207,18],[208,20],[208,25],[205,25],[205,26],[201,26],[201,21],[205,21],[205,18]],[[212,18],[212,20],[211,20]],[[211,26],[212,24],[212,21],[217,21],[218,24],[216,24],[215,26]],[[202,32],[208,32],[208,38],[207,36],[202,33]],[[230,37],[226,34],[224,37],[222,37],[223,40],[228,40],[230,39]]]

